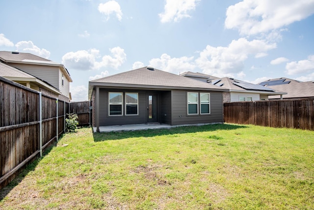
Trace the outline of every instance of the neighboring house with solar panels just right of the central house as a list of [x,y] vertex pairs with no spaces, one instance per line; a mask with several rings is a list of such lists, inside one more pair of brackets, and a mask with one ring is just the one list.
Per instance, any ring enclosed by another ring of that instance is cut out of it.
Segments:
[[201,77],[207,77],[205,81],[203,80],[204,82],[228,89],[229,91],[223,93],[224,103],[236,101],[268,100],[268,97],[273,95],[278,95],[278,97],[281,98],[283,94],[287,94],[286,92],[276,91],[260,85],[255,85],[241,80],[235,80],[233,78],[217,78],[206,74],[192,73],[193,72],[184,72],[180,75],[197,80],[200,80]]

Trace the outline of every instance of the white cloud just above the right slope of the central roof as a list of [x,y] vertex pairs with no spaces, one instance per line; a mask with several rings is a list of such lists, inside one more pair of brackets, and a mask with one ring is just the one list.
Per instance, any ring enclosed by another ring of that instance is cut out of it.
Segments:
[[160,58],[150,60],[149,65],[163,71],[179,73],[193,71],[196,66],[192,60],[193,57],[171,58],[167,54],[162,54]]

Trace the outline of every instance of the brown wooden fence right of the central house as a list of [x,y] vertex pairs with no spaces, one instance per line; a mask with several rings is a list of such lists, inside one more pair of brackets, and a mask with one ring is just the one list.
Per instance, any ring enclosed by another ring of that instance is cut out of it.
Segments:
[[314,99],[224,103],[227,123],[314,130]]

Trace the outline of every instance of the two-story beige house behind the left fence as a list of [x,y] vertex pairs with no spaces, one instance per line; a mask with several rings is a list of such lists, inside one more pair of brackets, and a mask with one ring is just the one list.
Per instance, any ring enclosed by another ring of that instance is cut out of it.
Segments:
[[0,51],[0,62],[20,70],[11,69],[12,75],[10,71],[6,72],[5,76],[2,72],[3,77],[61,100],[68,102],[71,100],[70,82],[73,81],[64,65],[30,53],[8,51]]

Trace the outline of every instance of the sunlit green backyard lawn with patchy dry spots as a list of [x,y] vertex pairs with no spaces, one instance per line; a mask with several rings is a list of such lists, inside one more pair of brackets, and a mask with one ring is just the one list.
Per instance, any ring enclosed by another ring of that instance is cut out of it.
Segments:
[[314,132],[216,124],[66,134],[0,209],[311,210]]

